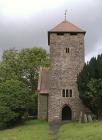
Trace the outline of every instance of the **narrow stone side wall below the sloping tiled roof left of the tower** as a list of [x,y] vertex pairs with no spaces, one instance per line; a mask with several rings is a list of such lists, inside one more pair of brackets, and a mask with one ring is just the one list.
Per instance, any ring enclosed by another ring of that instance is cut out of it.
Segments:
[[48,95],[46,94],[38,95],[38,119],[48,119]]

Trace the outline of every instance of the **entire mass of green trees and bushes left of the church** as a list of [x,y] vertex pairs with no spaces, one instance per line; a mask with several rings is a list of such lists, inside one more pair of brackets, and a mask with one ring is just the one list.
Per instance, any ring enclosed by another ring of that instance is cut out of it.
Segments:
[[49,56],[41,48],[4,51],[0,62],[1,128],[20,122],[26,113],[37,115],[39,68],[48,65]]

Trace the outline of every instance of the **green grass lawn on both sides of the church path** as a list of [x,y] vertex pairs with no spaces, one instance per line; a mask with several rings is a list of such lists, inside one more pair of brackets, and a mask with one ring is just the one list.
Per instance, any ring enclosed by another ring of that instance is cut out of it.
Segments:
[[[30,120],[24,125],[0,131],[0,140],[50,140],[48,123]],[[63,124],[58,140],[102,140],[102,122]],[[53,140],[53,139],[52,139]]]

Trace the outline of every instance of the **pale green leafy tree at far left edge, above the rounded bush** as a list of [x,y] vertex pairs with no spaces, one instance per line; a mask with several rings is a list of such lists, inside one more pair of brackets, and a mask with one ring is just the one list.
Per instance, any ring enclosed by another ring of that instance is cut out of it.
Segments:
[[4,82],[8,79],[18,79],[18,77],[18,52],[14,49],[5,50],[0,63],[0,82]]

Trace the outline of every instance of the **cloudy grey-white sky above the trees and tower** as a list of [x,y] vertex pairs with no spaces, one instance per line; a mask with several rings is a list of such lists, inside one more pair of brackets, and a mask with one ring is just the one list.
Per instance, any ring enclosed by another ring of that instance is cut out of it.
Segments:
[[0,0],[0,53],[8,48],[43,47],[47,31],[64,20],[87,31],[85,56],[102,53],[102,0]]

